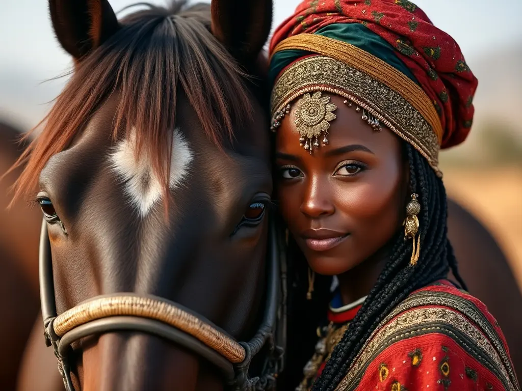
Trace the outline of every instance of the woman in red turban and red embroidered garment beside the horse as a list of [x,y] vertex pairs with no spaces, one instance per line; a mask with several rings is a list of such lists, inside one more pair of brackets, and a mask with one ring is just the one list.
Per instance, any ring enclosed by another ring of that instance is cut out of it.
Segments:
[[306,1],[270,55],[296,389],[518,390],[447,239],[437,155],[466,138],[477,88],[457,43],[405,0]]

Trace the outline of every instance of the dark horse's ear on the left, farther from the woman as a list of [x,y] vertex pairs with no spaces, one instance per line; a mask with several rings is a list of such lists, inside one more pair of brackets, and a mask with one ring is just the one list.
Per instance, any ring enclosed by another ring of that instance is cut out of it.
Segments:
[[107,0],[49,0],[56,38],[76,60],[100,46],[119,28]]

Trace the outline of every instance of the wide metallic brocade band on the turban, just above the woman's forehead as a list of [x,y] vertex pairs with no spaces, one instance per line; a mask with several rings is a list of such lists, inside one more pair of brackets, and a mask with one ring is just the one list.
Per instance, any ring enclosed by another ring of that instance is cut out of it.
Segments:
[[424,116],[398,92],[346,63],[324,56],[306,57],[286,69],[271,94],[272,119],[299,96],[323,91],[364,108],[438,169],[438,139]]

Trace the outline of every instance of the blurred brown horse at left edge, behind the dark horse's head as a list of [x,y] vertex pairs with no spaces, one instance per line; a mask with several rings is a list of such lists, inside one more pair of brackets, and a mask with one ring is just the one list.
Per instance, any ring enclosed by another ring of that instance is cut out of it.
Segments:
[[[26,144],[19,144],[22,130],[0,121],[0,175],[15,163]],[[38,259],[39,210],[31,210],[23,201],[10,211],[8,188],[20,169],[8,175],[0,185],[0,334],[4,341],[4,358],[0,359],[0,389],[15,389],[17,371],[32,324],[39,312]]]

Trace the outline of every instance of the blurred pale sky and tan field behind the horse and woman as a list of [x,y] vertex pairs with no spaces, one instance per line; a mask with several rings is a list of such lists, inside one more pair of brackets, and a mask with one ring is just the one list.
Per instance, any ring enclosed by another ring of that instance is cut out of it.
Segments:
[[[120,10],[134,2],[110,3]],[[298,3],[275,0],[274,27]],[[500,8],[502,15],[522,15],[522,2],[415,3],[457,40],[479,79],[471,134],[441,156],[448,193],[491,229],[522,287],[522,24],[500,16]],[[63,75],[70,60],[54,38],[46,1],[5,2],[0,33],[0,120],[27,130],[62,89],[66,77],[49,79]]]

